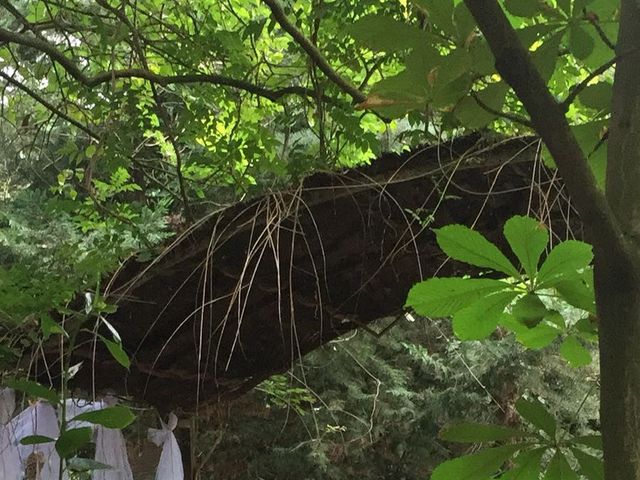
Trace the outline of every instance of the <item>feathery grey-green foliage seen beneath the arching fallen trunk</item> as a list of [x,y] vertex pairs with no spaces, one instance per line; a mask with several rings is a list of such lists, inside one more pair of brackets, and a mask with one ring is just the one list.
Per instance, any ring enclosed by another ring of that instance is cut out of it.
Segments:
[[428,478],[443,460],[474,451],[439,438],[443,427],[518,427],[521,395],[545,401],[568,438],[593,434],[597,369],[580,371],[585,382],[575,375],[557,344],[461,342],[446,321],[405,320],[380,339],[360,332],[327,345],[277,389],[271,381],[214,416],[202,450],[221,441],[205,468],[222,479]]

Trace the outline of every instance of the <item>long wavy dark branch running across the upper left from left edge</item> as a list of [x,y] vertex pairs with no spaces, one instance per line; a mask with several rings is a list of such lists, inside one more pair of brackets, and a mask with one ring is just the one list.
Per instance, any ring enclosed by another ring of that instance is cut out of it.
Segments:
[[[304,87],[290,86],[277,90],[269,90],[245,80],[206,73],[158,75],[141,68],[126,68],[122,70],[106,71],[94,76],[87,76],[71,59],[60,52],[55,46],[39,38],[0,28],[0,42],[24,45],[44,53],[51,60],[60,64],[60,66],[62,66],[62,68],[64,68],[71,77],[88,88],[94,88],[100,84],[111,82],[114,79],[139,78],[158,85],[209,83],[213,85],[227,86],[266,98],[272,102],[277,102],[286,95],[299,95],[311,99],[316,98],[316,94],[313,90]],[[332,103],[336,102],[336,100],[331,97],[327,97],[326,100]]]

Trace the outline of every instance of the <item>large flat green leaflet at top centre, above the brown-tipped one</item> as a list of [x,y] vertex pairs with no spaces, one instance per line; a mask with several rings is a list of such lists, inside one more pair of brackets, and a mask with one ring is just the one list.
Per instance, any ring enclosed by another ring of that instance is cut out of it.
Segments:
[[428,45],[431,40],[427,32],[382,15],[362,17],[346,33],[371,50],[387,53]]

